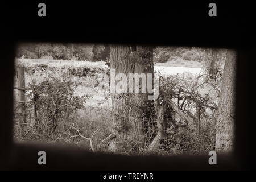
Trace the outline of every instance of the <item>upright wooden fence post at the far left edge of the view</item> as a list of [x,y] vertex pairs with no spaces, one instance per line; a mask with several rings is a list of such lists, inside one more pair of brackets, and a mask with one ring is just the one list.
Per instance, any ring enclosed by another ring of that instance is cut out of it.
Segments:
[[18,102],[20,104],[19,112],[23,115],[23,122],[26,123],[26,97],[25,97],[25,68],[23,66],[19,66],[17,68],[17,77],[18,77]]

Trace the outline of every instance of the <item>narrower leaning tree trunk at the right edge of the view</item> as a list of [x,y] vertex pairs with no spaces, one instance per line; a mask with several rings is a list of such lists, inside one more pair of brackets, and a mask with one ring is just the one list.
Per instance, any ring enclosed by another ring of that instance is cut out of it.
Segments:
[[231,151],[234,145],[236,98],[236,51],[228,50],[217,111],[216,150]]

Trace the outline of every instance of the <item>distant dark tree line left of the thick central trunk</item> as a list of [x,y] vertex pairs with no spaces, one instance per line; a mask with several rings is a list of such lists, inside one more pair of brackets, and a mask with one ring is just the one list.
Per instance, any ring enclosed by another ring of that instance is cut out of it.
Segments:
[[16,57],[106,61],[109,58],[109,46],[106,44],[81,43],[22,43],[17,48]]

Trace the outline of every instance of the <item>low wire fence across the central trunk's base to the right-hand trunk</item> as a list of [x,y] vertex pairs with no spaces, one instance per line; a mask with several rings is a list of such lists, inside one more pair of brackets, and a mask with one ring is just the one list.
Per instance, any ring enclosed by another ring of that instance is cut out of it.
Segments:
[[[134,120],[134,118],[132,119],[123,115],[118,115],[118,117]],[[141,123],[146,121],[146,127],[143,127],[143,125],[133,125],[136,129],[117,131],[116,133],[117,135],[122,135],[121,138],[126,138],[128,142],[134,142],[134,146],[141,144],[143,146],[143,152],[150,148],[155,139],[162,141],[156,146],[156,150],[162,148],[164,151],[170,151],[175,147],[179,148],[180,152],[204,152],[214,150],[216,138],[214,125],[202,125],[199,127],[199,125],[193,125],[191,123],[184,124],[171,121],[159,121],[156,119],[135,118],[135,120]],[[149,125],[150,123],[154,123],[154,125]],[[159,127],[162,124],[168,125],[163,129]],[[158,138],[160,133],[163,133],[163,135]]]

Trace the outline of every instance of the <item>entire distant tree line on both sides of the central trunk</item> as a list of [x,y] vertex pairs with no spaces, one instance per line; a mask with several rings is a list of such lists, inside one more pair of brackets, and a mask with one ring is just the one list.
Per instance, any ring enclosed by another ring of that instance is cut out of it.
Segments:
[[[207,61],[210,64],[212,49],[199,47],[160,47],[153,50],[155,63],[167,61]],[[219,51],[215,62],[224,63],[225,50]],[[210,56],[210,57],[209,57]],[[25,59],[58,59],[58,60],[88,60],[109,62],[109,44],[81,44],[81,43],[22,43],[18,46],[16,57]],[[214,56],[213,56],[214,57]]]

